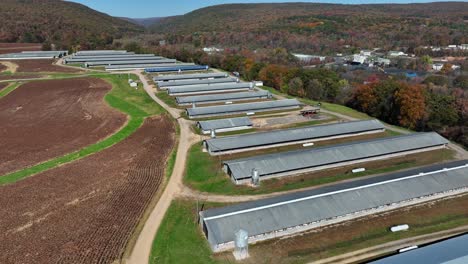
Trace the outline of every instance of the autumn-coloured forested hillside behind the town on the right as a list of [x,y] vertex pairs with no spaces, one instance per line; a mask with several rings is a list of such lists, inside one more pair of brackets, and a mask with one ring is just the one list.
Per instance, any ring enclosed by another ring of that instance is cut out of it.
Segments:
[[230,4],[170,17],[151,27],[170,44],[333,53],[361,48],[468,42],[468,3]]

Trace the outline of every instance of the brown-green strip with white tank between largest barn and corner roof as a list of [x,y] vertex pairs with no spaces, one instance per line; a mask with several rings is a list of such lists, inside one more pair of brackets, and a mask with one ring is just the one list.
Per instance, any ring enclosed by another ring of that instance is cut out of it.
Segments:
[[[462,221],[468,219],[467,207],[468,195],[465,195],[361,218],[293,238],[275,239],[250,246],[250,258],[243,263],[305,263],[349,251],[346,248],[357,250],[385,243],[392,237],[418,235],[412,228],[427,233],[438,225],[443,227],[448,221],[463,225]],[[410,231],[392,234],[388,230],[390,226],[402,223],[409,224]],[[231,253],[220,254],[218,258],[234,262]]]

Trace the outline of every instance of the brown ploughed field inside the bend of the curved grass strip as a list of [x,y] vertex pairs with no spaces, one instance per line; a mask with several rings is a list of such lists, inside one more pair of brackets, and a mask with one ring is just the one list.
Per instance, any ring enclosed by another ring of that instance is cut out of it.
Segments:
[[95,143],[126,116],[104,102],[101,79],[34,81],[1,99],[0,175]]

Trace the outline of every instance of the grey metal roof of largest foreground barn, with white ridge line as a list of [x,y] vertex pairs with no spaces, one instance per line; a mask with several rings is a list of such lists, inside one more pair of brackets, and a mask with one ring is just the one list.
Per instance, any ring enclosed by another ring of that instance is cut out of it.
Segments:
[[[387,174],[200,213],[212,246],[468,187],[468,161]],[[447,169],[444,169],[447,168]],[[420,174],[425,173],[425,174]]]

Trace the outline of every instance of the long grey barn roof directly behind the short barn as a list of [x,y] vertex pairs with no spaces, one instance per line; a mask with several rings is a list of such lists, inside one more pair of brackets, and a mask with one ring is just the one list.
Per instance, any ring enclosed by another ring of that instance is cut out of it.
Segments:
[[245,104],[232,104],[220,106],[207,106],[188,108],[187,113],[190,117],[203,116],[203,115],[219,115],[240,112],[254,112],[254,111],[268,111],[276,108],[286,107],[300,107],[301,103],[296,99],[285,99],[267,102],[255,102]]

